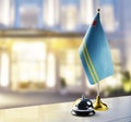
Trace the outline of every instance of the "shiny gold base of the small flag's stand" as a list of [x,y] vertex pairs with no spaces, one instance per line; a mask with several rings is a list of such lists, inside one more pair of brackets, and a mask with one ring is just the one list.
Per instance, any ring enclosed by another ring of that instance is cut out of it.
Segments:
[[98,111],[106,111],[108,109],[107,105],[102,102],[100,97],[96,96],[96,101],[93,103],[94,109]]

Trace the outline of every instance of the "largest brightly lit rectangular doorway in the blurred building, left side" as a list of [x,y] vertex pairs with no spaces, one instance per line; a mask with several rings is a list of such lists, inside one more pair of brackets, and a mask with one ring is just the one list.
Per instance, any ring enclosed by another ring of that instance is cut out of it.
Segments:
[[46,45],[43,41],[15,41],[11,56],[14,89],[46,87]]

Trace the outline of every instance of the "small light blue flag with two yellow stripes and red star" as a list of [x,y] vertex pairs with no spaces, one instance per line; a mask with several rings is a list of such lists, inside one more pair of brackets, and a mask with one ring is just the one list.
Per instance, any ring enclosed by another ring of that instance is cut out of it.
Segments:
[[79,54],[91,84],[114,74],[111,54],[100,24],[99,12],[85,34]]

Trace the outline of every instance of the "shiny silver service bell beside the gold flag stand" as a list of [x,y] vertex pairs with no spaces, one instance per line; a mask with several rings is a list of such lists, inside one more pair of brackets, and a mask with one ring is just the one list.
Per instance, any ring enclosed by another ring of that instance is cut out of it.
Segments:
[[95,111],[92,101],[82,96],[74,102],[71,113],[78,117],[92,117],[95,114]]

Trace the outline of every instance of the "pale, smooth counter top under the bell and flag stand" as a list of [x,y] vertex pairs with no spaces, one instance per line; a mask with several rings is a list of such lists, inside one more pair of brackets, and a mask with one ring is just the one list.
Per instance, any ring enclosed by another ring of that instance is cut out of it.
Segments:
[[103,99],[107,111],[94,117],[71,114],[73,102],[0,110],[0,122],[131,122],[131,96]]

